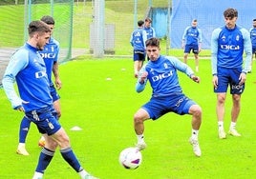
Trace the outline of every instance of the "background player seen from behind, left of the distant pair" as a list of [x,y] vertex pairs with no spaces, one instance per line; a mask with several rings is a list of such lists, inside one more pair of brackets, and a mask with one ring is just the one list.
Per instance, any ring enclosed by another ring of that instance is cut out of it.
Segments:
[[131,34],[130,43],[134,48],[134,75],[137,78],[139,70],[145,61],[145,41],[147,39],[146,31],[143,30],[144,22],[138,21],[138,29]]

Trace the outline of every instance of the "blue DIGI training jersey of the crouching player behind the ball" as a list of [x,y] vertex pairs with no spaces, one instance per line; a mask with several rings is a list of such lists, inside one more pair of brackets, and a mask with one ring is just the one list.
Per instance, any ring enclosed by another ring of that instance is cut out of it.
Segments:
[[154,97],[181,93],[182,89],[179,84],[177,70],[180,70],[189,77],[191,74],[194,74],[193,70],[182,63],[178,58],[160,55],[157,61],[149,61],[139,71],[139,74],[143,71],[147,71],[148,76],[143,84],[140,84],[140,79],[138,79],[136,90],[138,92],[142,91],[147,81],[149,81],[153,89],[152,96]]

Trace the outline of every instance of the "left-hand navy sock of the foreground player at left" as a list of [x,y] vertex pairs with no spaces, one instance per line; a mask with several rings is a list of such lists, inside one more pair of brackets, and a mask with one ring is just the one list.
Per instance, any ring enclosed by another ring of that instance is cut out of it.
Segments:
[[40,153],[38,164],[35,171],[44,173],[45,169],[49,166],[50,162],[52,161],[53,155],[54,151],[43,148]]

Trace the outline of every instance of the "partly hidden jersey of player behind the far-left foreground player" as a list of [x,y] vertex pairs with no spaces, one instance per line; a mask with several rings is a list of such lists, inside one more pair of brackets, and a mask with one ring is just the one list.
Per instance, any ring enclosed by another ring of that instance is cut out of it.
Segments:
[[51,85],[52,82],[52,71],[53,63],[57,63],[58,53],[59,53],[59,43],[51,37],[49,43],[44,47],[44,50],[39,51],[40,55],[43,57],[46,65],[46,73]]

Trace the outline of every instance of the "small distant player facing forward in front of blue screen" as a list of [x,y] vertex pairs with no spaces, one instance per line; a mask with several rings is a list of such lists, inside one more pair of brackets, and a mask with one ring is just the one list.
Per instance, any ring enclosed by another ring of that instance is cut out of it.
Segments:
[[184,30],[181,48],[184,50],[184,63],[187,64],[188,53],[192,50],[195,56],[196,71],[199,71],[199,52],[202,48],[202,30],[198,28],[198,20],[193,19],[191,26]]

